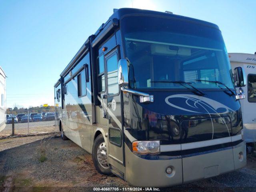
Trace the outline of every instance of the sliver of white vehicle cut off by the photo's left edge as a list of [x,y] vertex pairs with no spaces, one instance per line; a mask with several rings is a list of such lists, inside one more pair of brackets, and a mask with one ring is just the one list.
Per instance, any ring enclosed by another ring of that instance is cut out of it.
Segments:
[[4,70],[0,67],[0,132],[6,126],[6,75]]

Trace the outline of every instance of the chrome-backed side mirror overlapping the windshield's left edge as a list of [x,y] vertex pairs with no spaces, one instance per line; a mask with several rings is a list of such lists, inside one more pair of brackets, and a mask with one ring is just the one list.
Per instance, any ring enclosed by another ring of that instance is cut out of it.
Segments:
[[118,84],[119,86],[128,85],[128,64],[126,59],[120,59],[118,61]]

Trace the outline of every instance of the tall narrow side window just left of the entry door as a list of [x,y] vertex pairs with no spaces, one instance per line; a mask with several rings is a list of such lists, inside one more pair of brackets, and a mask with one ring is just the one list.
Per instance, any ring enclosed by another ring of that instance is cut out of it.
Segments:
[[104,55],[98,57],[98,92],[105,92],[105,69],[104,69]]

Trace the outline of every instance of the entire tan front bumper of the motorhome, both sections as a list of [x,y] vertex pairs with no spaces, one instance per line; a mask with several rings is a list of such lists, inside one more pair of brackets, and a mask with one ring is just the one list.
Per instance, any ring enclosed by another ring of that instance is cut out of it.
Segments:
[[[242,153],[241,155],[238,154]],[[240,156],[240,159],[239,159]],[[133,154],[125,144],[125,180],[134,186],[167,187],[210,178],[246,165],[245,142],[225,150],[170,160],[147,160]],[[166,168],[173,169],[172,174]]]

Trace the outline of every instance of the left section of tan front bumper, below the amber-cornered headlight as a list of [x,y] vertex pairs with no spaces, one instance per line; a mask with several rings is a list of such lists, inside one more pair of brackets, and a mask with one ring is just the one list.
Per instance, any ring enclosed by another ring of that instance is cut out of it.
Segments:
[[[146,160],[134,155],[125,144],[125,180],[134,186],[167,187],[182,184],[182,159]],[[173,174],[166,168],[171,166]]]

